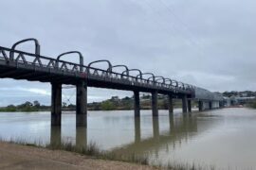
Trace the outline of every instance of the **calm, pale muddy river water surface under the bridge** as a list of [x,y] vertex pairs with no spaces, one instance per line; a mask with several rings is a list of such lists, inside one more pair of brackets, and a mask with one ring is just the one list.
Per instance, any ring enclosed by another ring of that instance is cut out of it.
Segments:
[[50,128],[49,112],[1,112],[0,136],[42,144],[97,143],[101,149],[149,154],[152,161],[196,162],[218,168],[256,169],[256,110],[193,111],[183,115],[160,110],[89,111],[88,127],[75,127],[75,113],[64,112],[62,129]]

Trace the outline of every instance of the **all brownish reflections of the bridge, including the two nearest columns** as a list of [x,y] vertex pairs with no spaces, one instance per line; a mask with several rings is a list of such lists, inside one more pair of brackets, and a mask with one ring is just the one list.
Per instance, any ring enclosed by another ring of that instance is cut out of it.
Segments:
[[[135,118],[134,125],[134,142],[130,144],[123,144],[121,146],[112,149],[115,153],[126,154],[143,154],[145,152],[151,152],[159,150],[162,146],[172,145],[173,148],[177,144],[181,144],[183,141],[188,142],[193,135],[198,135],[214,125],[214,121],[210,121],[207,124],[203,121],[198,122],[198,116],[204,116],[203,114],[175,114],[166,116],[169,118],[169,128],[160,131],[159,117],[153,117],[152,127],[153,136],[145,139],[141,138],[141,120],[140,117]],[[200,131],[198,131],[200,128]],[[102,129],[103,130],[103,129]],[[51,127],[51,144],[61,144],[61,128]],[[87,128],[76,128],[76,146],[86,147],[87,145]]]

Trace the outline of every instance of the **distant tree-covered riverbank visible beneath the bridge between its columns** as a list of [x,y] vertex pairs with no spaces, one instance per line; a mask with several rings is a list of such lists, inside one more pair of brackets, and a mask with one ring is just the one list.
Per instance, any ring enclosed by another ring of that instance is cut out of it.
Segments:
[[[192,102],[192,106],[196,104]],[[181,101],[174,99],[174,108],[181,108]],[[150,95],[144,95],[141,97],[140,101],[141,110],[151,110],[151,97]],[[158,109],[168,110],[168,103],[164,96],[158,96]],[[35,111],[49,111],[50,106],[41,105],[38,101],[25,102],[20,105],[9,105],[6,107],[0,107],[0,112],[35,112]],[[73,104],[67,105],[63,102],[62,110],[76,110],[76,106]],[[93,102],[87,104],[87,110],[134,110],[134,98],[124,97],[119,98],[118,96],[113,96],[110,99]]]

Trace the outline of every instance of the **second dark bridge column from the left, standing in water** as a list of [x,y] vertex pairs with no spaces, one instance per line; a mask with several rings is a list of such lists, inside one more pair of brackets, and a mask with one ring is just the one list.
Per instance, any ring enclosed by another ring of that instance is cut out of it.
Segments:
[[87,127],[87,85],[84,81],[77,84],[77,127]]

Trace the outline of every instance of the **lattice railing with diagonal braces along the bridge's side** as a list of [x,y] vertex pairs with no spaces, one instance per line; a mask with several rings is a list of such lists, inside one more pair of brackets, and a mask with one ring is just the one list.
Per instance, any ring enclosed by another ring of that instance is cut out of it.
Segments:
[[[10,53],[12,58],[10,59]],[[79,74],[83,77],[103,78],[105,80],[117,80],[121,83],[131,85],[138,85],[143,87],[171,90],[175,92],[193,92],[193,87],[178,82],[177,84],[167,84],[163,82],[156,82],[152,79],[145,79],[137,76],[127,76],[117,72],[103,70],[94,67],[88,67],[74,62],[65,61],[62,59],[52,59],[42,55],[31,54],[24,51],[13,50],[0,46],[0,59],[5,60],[7,64],[12,64],[15,67],[21,65],[29,68],[40,69],[45,68],[53,71],[63,73]],[[58,62],[58,64],[57,64]],[[81,71],[82,68],[82,71]]]

